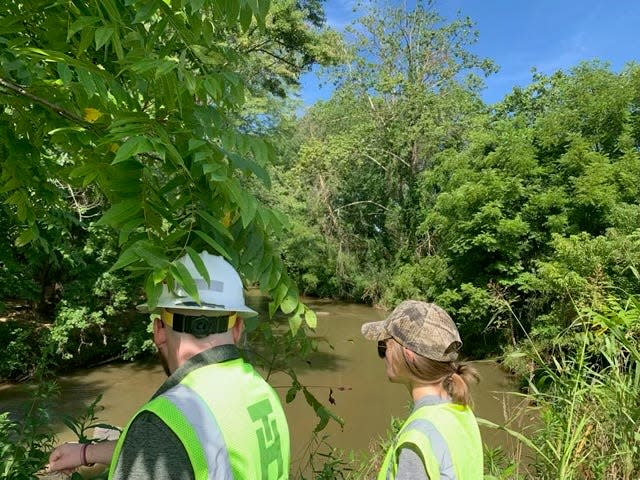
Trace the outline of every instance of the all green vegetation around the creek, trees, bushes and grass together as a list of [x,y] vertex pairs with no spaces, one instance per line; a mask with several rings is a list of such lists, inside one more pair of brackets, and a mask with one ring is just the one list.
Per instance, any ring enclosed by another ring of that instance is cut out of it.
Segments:
[[[207,249],[287,315],[255,330],[282,346],[267,367],[313,348],[299,292],[435,301],[540,419],[495,426],[528,453],[487,452],[490,478],[638,478],[640,67],[534,73],[487,105],[496,66],[432,2],[345,38],[319,1],[224,4],[0,5],[0,377],[35,375],[44,405],[43,361],[152,352],[132,307],[190,288],[175,259]],[[318,63],[335,93],[298,117]],[[319,429],[339,420],[290,374]],[[0,416],[6,478],[43,465],[46,412]],[[317,478],[371,473],[323,446]]]

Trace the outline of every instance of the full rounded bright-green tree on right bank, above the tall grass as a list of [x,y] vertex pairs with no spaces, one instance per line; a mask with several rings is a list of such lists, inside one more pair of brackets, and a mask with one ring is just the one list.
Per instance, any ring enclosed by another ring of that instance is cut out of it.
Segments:
[[466,301],[457,285],[493,299],[476,309],[471,332],[544,343],[580,308],[633,288],[636,75],[637,66],[614,74],[600,62],[536,75],[422,174],[420,230],[447,259],[455,293],[445,289],[442,302]]

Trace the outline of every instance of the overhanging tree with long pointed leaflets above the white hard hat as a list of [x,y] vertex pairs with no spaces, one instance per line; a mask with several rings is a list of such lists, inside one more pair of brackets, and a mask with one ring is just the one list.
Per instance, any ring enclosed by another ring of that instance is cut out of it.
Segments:
[[[273,156],[242,121],[260,84],[246,77],[256,68],[247,45],[280,57],[289,82],[316,58],[287,59],[316,37],[281,41],[269,3],[4,2],[1,194],[21,226],[16,245],[55,256],[61,233],[73,237],[98,216],[118,232],[112,269],[144,276],[151,304],[163,282],[196,294],[175,260],[207,249],[271,294],[271,314],[293,313],[294,330],[303,317],[314,325],[273,247],[284,220],[247,187],[251,178],[269,185]],[[292,5],[276,11],[288,8],[303,32],[307,18]]]

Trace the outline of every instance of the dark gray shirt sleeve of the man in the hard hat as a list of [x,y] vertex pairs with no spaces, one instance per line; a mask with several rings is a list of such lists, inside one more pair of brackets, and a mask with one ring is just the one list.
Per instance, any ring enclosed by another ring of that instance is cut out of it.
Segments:
[[124,440],[114,480],[194,480],[180,439],[160,418],[141,412]]

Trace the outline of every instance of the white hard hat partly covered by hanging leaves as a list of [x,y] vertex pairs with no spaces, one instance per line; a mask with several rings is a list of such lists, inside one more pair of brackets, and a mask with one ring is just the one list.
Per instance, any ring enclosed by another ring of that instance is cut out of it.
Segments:
[[[200,303],[188,295],[180,285],[170,292],[166,285],[162,286],[162,294],[156,309],[169,308],[175,313],[187,315],[218,316],[237,312],[243,317],[257,315],[258,312],[244,303],[243,285],[238,272],[224,258],[203,251],[200,253],[207,271],[209,283],[200,275],[189,255],[178,261],[182,262],[193,277],[198,287]],[[139,310],[149,311],[147,304],[140,305]]]

